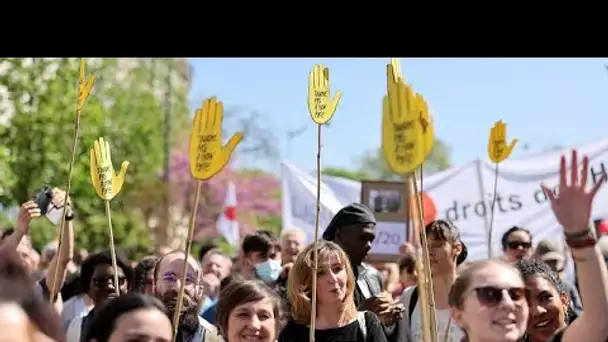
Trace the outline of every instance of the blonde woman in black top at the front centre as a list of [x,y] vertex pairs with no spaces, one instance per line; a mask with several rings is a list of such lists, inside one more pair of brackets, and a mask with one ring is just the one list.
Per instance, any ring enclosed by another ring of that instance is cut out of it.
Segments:
[[[353,300],[355,278],[344,251],[335,243],[317,243],[317,315],[315,341],[386,342],[374,313],[358,312]],[[279,342],[308,342],[310,331],[314,244],[298,255],[289,275],[291,320]]]

